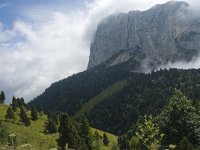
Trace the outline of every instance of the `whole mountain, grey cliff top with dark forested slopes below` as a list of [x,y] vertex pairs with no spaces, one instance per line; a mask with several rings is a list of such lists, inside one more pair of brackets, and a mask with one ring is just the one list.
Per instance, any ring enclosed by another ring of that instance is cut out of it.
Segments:
[[144,73],[143,67],[190,61],[199,53],[200,24],[185,20],[188,7],[173,1],[106,18],[91,44],[89,69],[53,83],[28,106],[74,119],[84,113],[93,127],[123,135],[140,117],[159,113],[175,89],[196,105],[200,69]]

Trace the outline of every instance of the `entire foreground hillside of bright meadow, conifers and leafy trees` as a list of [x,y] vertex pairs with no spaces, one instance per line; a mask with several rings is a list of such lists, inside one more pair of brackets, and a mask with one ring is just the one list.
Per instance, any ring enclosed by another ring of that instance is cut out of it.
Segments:
[[[23,99],[14,98],[10,106],[0,104],[0,148],[199,150],[200,107],[179,90],[175,89],[174,93],[161,113],[141,116],[119,138],[91,128],[84,115],[78,123],[66,113],[44,115],[33,108],[25,110]],[[23,120],[24,116],[31,120],[30,123]]]

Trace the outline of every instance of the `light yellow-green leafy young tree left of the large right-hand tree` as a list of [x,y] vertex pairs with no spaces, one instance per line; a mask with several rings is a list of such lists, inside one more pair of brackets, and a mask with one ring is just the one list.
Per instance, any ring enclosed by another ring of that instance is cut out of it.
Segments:
[[153,117],[145,115],[143,123],[137,126],[135,136],[150,149],[154,145],[161,144],[164,135],[153,123]]

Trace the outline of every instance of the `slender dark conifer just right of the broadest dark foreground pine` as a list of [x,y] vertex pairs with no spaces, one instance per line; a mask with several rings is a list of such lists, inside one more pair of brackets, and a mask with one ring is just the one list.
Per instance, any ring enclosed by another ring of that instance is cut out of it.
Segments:
[[79,133],[80,133],[81,139],[85,142],[85,145],[87,146],[88,150],[93,150],[92,133],[91,133],[88,120],[86,119],[85,115],[81,116]]

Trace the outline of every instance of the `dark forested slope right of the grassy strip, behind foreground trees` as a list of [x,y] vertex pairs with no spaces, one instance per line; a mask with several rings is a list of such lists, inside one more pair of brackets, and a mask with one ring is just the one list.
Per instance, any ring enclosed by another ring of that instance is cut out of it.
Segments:
[[160,113],[175,88],[196,102],[200,100],[200,69],[132,73],[127,83],[86,114],[91,126],[123,135],[140,116]]

